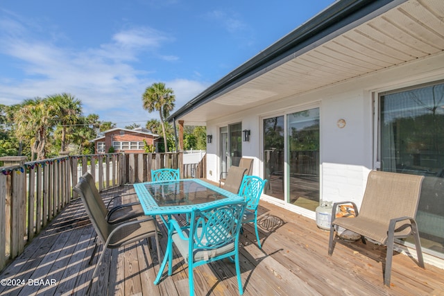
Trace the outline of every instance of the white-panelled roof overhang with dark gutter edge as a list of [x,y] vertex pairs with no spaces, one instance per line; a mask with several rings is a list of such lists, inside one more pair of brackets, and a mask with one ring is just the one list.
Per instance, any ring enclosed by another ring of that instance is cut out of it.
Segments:
[[442,0],[341,0],[169,116],[207,121],[444,50]]

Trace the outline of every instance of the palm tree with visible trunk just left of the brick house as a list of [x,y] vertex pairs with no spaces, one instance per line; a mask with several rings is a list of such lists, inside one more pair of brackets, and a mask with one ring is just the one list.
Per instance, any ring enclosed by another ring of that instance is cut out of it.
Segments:
[[80,116],[82,115],[82,103],[67,93],[47,96],[46,99],[49,105],[53,107],[54,120],[62,126],[62,144],[60,150],[65,151],[67,146],[67,127],[79,122]]

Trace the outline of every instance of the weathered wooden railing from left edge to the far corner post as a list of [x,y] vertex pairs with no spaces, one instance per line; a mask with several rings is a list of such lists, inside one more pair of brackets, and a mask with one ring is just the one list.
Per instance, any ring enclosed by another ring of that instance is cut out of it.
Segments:
[[151,180],[157,168],[181,168],[184,177],[182,153],[76,155],[0,167],[0,270],[77,198],[72,188],[85,172],[103,191]]

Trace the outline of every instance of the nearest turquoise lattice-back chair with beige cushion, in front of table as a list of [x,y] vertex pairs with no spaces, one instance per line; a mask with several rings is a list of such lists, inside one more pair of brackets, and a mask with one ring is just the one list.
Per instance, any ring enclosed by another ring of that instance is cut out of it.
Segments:
[[224,258],[232,260],[233,256],[239,294],[242,295],[244,289],[239,267],[239,231],[245,207],[245,201],[231,201],[202,209],[194,208],[191,210],[189,227],[180,227],[176,220],[170,220],[167,251],[154,284],[159,284],[167,261],[168,275],[172,274],[174,243],[188,263],[189,295],[194,295],[194,268]]

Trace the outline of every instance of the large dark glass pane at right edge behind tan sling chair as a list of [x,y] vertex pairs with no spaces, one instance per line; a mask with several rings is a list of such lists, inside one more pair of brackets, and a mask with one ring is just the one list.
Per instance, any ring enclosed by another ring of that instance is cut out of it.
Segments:
[[444,83],[379,94],[382,171],[424,175],[416,219],[422,246],[444,254]]

